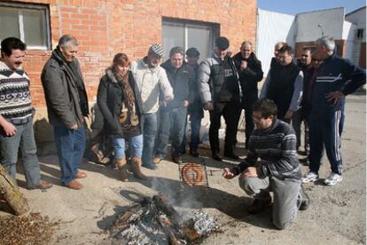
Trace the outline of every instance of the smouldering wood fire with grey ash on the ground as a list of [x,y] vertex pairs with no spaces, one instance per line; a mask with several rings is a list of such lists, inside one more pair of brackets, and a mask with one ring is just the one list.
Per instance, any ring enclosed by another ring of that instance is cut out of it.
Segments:
[[116,218],[111,233],[128,244],[188,244],[219,230],[219,224],[202,211],[186,215],[185,219],[164,195],[146,197]]

